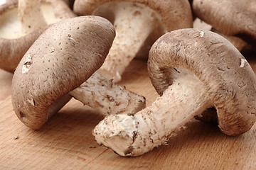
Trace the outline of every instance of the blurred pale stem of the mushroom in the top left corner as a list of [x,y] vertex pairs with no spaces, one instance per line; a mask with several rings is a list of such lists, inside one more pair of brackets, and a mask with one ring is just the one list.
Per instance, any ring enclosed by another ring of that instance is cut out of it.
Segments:
[[18,18],[23,33],[47,26],[41,11],[40,0],[18,0]]

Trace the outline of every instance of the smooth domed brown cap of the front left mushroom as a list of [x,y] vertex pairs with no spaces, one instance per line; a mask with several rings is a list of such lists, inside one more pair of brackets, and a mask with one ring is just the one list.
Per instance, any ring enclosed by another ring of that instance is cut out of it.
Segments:
[[18,118],[38,129],[99,69],[115,32],[98,16],[69,18],[50,26],[26,52],[14,72],[12,104]]

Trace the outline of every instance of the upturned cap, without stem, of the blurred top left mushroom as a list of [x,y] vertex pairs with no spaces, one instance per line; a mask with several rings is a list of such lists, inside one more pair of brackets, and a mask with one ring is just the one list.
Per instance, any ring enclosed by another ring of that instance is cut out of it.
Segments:
[[[41,5],[48,24],[75,16],[61,0],[41,0]],[[18,21],[18,0],[10,0],[0,6],[0,23],[0,69],[14,72],[23,55],[48,26],[28,34],[22,33]]]

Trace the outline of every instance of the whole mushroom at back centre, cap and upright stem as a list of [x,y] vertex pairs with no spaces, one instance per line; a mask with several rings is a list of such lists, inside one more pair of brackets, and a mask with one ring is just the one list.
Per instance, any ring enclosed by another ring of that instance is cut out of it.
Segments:
[[152,45],[167,31],[192,28],[193,24],[187,0],[77,0],[74,11],[78,16],[102,16],[113,23],[117,36],[100,72],[114,81],[119,81],[129,62],[146,49],[143,45],[149,46],[146,40]]

